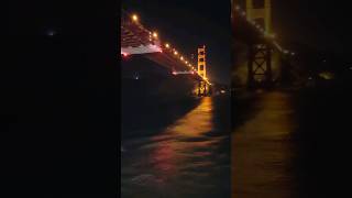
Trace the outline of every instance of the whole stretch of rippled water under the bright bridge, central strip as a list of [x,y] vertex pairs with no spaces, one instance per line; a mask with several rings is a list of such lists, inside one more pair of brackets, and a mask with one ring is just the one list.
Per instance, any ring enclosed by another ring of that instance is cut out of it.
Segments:
[[122,197],[230,197],[230,98],[206,97],[167,114],[122,131]]

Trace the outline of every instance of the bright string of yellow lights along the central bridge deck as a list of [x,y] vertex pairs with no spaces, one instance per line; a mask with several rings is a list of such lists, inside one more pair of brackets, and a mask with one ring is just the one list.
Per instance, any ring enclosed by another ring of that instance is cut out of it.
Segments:
[[[139,24],[139,21],[140,21],[140,18],[138,14],[131,14],[131,20],[132,22],[134,23],[138,23]],[[160,36],[158,36],[158,33],[156,31],[148,31],[146,29],[144,29],[143,26],[141,26],[144,31],[148,32],[150,34],[150,37],[148,40],[150,41],[153,41],[153,40],[160,40]],[[207,84],[211,85],[208,80],[208,78],[204,78],[199,73],[198,70],[196,69],[196,67],[189,62],[187,61],[187,58],[185,58],[175,47],[172,47],[172,45],[168,43],[168,42],[165,42],[165,43],[161,43],[162,44],[162,48],[160,51],[160,53],[163,53],[164,51],[166,52],[169,52],[170,54],[173,54],[175,57],[177,57],[182,63],[184,63],[187,67],[189,67],[190,69],[190,73],[189,74],[197,74],[200,78],[202,78],[202,80],[205,80]],[[178,73],[177,72],[173,72],[173,75],[177,75]],[[184,73],[183,73],[184,74]]]

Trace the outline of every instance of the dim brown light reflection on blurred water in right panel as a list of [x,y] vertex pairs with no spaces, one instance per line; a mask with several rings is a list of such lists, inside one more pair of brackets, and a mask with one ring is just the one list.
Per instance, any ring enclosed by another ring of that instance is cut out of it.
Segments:
[[290,95],[265,92],[254,106],[256,113],[232,136],[232,196],[290,198],[297,125]]

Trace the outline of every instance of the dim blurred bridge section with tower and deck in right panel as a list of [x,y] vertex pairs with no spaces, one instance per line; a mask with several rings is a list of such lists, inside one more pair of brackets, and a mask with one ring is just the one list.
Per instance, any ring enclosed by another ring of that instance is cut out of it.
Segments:
[[[271,0],[232,0],[231,23],[234,44],[246,45],[246,86],[249,88],[272,87],[275,79],[273,69],[278,73],[278,79],[287,77],[285,74],[292,66],[295,52],[286,50],[279,44],[272,25]],[[237,54],[234,54],[237,57]],[[275,64],[275,65],[273,65]]]

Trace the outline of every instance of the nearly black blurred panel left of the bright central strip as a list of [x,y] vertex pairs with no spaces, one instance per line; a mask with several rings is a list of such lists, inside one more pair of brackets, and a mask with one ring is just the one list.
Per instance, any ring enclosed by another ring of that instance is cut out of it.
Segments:
[[3,189],[116,195],[118,2],[13,0],[7,9]]

